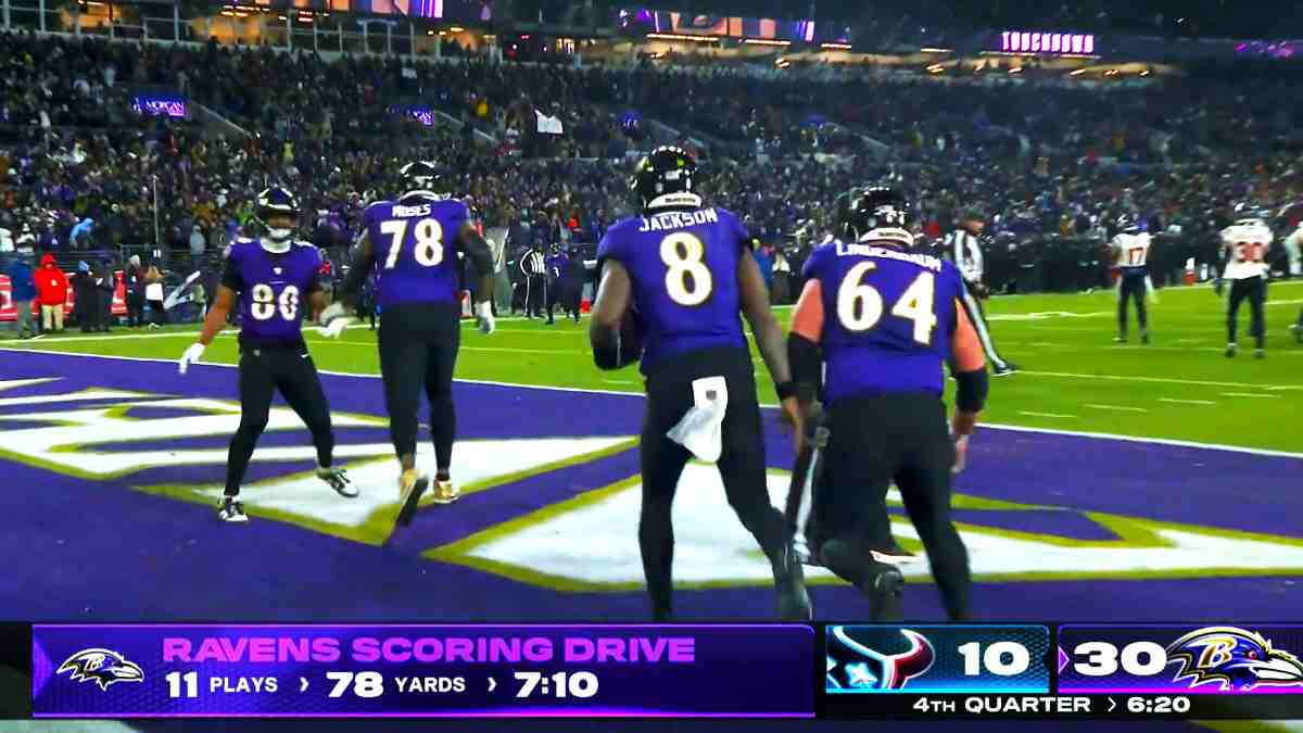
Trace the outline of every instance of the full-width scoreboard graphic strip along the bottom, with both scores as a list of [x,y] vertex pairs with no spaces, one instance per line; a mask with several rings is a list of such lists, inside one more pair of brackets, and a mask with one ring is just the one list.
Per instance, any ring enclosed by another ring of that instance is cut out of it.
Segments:
[[0,717],[1303,719],[1303,623],[0,625]]

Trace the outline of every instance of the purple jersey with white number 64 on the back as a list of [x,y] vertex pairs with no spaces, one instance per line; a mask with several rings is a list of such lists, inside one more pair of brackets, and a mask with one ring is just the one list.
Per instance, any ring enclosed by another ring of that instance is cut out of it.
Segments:
[[827,364],[823,400],[941,395],[963,279],[950,262],[890,247],[830,241],[805,262],[820,280]]

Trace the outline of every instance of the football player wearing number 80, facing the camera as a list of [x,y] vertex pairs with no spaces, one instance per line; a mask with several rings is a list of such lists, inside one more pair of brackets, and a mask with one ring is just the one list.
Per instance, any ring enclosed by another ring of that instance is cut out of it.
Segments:
[[335,433],[330,403],[317,366],[304,343],[305,309],[315,316],[326,308],[321,284],[321,252],[291,235],[298,218],[293,194],[268,188],[258,194],[258,218],[266,233],[237,239],[227,253],[222,284],[199,340],[185,350],[179,363],[182,374],[199,361],[205,348],[227,325],[227,316],[240,305],[240,428],[231,438],[227,486],[218,506],[223,522],[248,522],[238,501],[240,484],[258,437],[267,426],[276,391],[304,420],[317,446],[317,477],[343,497],[356,497],[344,471],[331,466]]

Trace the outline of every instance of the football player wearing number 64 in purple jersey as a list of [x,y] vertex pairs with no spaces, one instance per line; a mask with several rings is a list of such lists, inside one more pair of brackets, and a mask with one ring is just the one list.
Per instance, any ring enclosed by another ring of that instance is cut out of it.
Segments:
[[[877,552],[890,536],[895,483],[932,563],[951,620],[968,617],[968,553],[950,518],[951,472],[963,468],[988,390],[982,347],[964,307],[959,270],[911,250],[911,209],[893,188],[852,192],[838,206],[840,240],[805,262],[788,352],[803,410],[822,374],[826,447],[810,550],[898,620],[904,579]],[[954,419],[942,364],[958,383]]]

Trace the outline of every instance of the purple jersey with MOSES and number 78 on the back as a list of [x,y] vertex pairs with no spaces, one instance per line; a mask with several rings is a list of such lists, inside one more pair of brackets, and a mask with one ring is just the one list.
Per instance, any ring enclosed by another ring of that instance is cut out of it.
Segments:
[[460,303],[459,233],[466,205],[433,194],[378,201],[362,214],[375,256],[375,301]]

